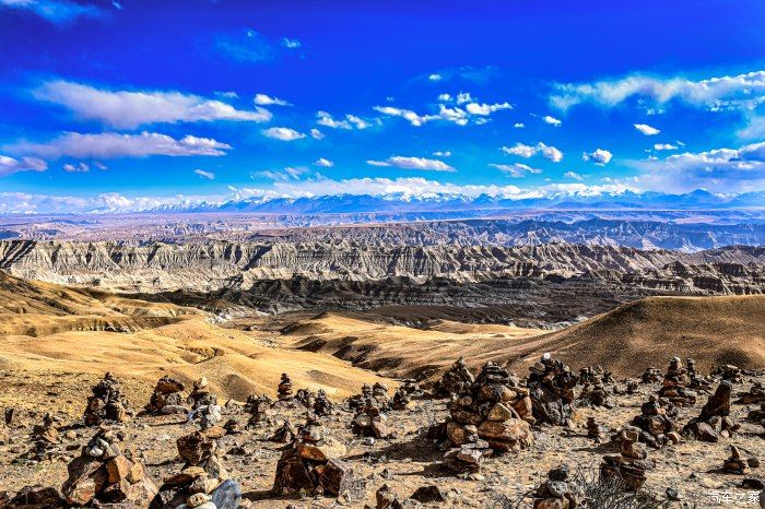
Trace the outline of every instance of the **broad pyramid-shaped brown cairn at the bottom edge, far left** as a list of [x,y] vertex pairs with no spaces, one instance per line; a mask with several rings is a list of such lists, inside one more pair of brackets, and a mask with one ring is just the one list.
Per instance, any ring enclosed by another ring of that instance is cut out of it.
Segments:
[[131,502],[129,507],[148,507],[157,493],[156,486],[146,476],[143,463],[130,451],[122,452],[123,439],[121,430],[102,427],[69,463],[69,477],[61,487],[69,504]]

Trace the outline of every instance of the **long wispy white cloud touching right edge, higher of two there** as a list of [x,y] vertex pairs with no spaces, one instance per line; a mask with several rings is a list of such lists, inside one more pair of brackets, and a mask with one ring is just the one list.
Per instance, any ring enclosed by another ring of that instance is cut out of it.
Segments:
[[752,109],[763,100],[765,71],[706,80],[635,74],[611,81],[557,84],[555,91],[550,102],[562,110],[581,103],[613,107],[632,97],[649,98],[659,105],[676,99],[713,110]]

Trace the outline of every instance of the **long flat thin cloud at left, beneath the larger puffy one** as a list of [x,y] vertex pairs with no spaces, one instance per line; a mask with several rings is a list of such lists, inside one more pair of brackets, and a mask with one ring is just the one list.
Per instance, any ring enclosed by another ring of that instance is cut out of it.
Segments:
[[211,138],[186,135],[180,140],[156,132],[120,134],[104,132],[80,134],[66,132],[46,143],[22,142],[8,145],[11,152],[32,154],[47,159],[69,156],[76,158],[146,157],[151,155],[190,156],[225,155],[231,145]]

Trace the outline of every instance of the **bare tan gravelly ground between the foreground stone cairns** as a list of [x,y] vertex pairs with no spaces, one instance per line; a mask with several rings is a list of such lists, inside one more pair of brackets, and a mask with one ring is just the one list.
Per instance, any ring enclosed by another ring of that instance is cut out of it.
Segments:
[[[40,401],[47,400],[47,404],[40,403],[35,410],[19,410],[9,425],[0,426],[0,492],[4,489],[13,494],[26,485],[61,486],[67,478],[67,464],[80,454],[81,448],[97,429],[85,427],[81,418],[89,387],[97,381],[94,377],[61,379],[58,387],[66,389],[59,391],[54,383],[39,384],[25,379],[23,372],[3,374],[2,386],[13,388],[9,392],[15,398],[36,392]],[[733,393],[749,391],[756,381],[763,382],[765,377],[743,377],[740,383],[733,386]],[[619,386],[623,387],[622,383]],[[48,388],[47,398],[39,395],[44,387]],[[142,409],[152,389],[130,380],[122,380],[121,387],[128,406],[132,409]],[[611,393],[614,386],[605,387]],[[387,412],[387,425],[392,433],[387,439],[355,436],[351,429],[354,412],[348,403],[337,401],[333,413],[321,421],[326,434],[346,446],[342,458],[354,472],[354,488],[340,497],[314,497],[310,494],[276,496],[271,493],[276,463],[282,449],[287,446],[269,441],[268,438],[284,419],[293,425],[305,422],[306,411],[298,404],[294,404],[294,407],[278,404],[269,409],[264,422],[254,427],[246,426],[249,414],[243,404],[232,402],[223,405],[221,424],[235,419],[239,431],[227,434],[219,440],[219,453],[231,477],[242,485],[242,507],[376,507],[375,494],[382,485],[388,485],[401,499],[411,496],[419,487],[437,486],[445,501],[425,504],[426,507],[516,507],[511,502],[539,486],[548,471],[555,466],[568,464],[572,469],[585,469],[597,474],[603,454],[616,452],[617,447],[610,441],[599,443],[589,438],[587,417],[593,416],[599,424],[607,426],[607,436],[611,437],[617,428],[640,414],[640,405],[660,387],[660,382],[640,383],[633,394],[615,395],[616,406],[613,409],[580,407],[568,426],[536,425],[531,447],[492,457],[478,473],[460,475],[444,467],[444,450],[425,435],[431,425],[446,418],[448,400],[414,399],[407,410]],[[576,392],[580,390],[581,387],[578,387]],[[706,401],[706,395],[699,395],[695,405],[679,407],[679,427],[696,417]],[[9,399],[3,403],[7,409],[12,407]],[[762,425],[745,421],[749,411],[755,406],[732,405],[729,418],[740,423],[741,429],[731,438],[720,437],[716,443],[683,438],[679,443],[660,450],[649,448],[648,458],[656,461],[656,467],[646,473],[645,489],[657,494],[659,499],[667,498],[668,488],[676,490],[681,499],[672,501],[672,507],[718,507],[723,505],[725,497],[734,497],[733,500],[743,497],[743,501],[733,502],[733,506],[758,507],[750,497],[754,497],[752,494],[760,489],[752,487],[755,484],[742,487],[742,481],[748,476],[761,477],[762,467],[752,467],[746,476],[721,471],[723,461],[730,457],[731,445],[738,446],[746,459],[765,458]],[[60,419],[56,425],[60,443],[51,447],[51,459],[38,461],[30,458],[27,452],[33,447],[33,427],[43,422],[45,412]],[[176,440],[199,428],[197,424],[188,423],[185,415],[137,416],[119,426],[125,430],[125,446],[132,448],[133,458],[143,460],[149,478],[157,485],[183,467]]]

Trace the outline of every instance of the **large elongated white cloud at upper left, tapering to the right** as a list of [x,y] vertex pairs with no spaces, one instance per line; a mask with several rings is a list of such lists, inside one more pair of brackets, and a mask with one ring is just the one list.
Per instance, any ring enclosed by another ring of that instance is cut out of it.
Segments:
[[43,84],[33,91],[33,95],[61,105],[82,119],[126,129],[161,122],[271,120],[271,113],[260,107],[246,111],[220,100],[180,92],[107,91],[59,80]]

